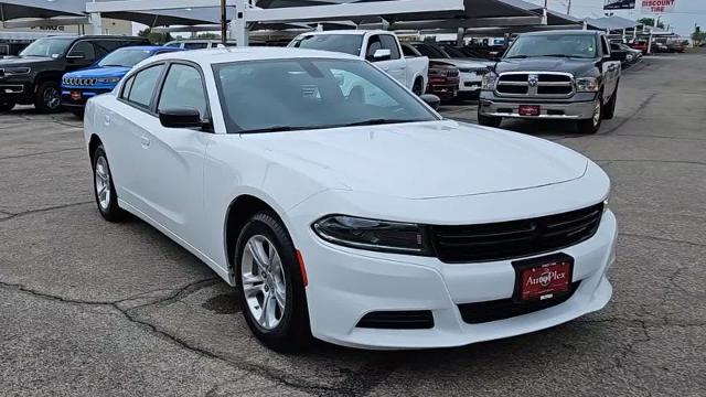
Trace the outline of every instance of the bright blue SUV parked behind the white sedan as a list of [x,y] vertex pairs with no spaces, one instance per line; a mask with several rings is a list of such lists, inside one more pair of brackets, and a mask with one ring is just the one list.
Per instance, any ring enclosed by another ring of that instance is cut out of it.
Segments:
[[165,46],[129,46],[106,55],[89,68],[67,73],[62,78],[62,106],[82,115],[86,100],[110,93],[132,66],[157,54],[183,51]]

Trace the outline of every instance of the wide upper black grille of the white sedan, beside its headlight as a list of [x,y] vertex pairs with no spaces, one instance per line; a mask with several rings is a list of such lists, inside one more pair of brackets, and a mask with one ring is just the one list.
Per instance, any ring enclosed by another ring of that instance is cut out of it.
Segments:
[[431,226],[431,244],[441,261],[505,260],[549,253],[592,237],[603,204],[531,219],[462,226]]

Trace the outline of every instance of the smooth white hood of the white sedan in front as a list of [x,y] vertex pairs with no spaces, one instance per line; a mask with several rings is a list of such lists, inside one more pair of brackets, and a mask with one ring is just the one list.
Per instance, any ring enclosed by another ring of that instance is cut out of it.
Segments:
[[451,120],[243,138],[272,162],[325,175],[325,187],[414,200],[546,186],[581,178],[588,167],[556,143]]

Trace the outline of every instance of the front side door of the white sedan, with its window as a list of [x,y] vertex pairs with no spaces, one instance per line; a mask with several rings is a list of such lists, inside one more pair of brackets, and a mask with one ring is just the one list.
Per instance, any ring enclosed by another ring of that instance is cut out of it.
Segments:
[[[199,110],[211,118],[201,68],[171,63],[157,96],[157,114],[169,109]],[[167,128],[158,117],[146,126],[142,178],[148,215],[193,246],[202,238],[203,167],[212,133],[203,129]]]

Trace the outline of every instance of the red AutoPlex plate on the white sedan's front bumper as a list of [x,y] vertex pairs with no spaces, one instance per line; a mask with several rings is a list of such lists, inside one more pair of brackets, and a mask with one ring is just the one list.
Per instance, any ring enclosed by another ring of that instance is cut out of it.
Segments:
[[547,299],[555,293],[566,292],[571,283],[571,262],[556,261],[538,265],[522,271],[521,297]]

